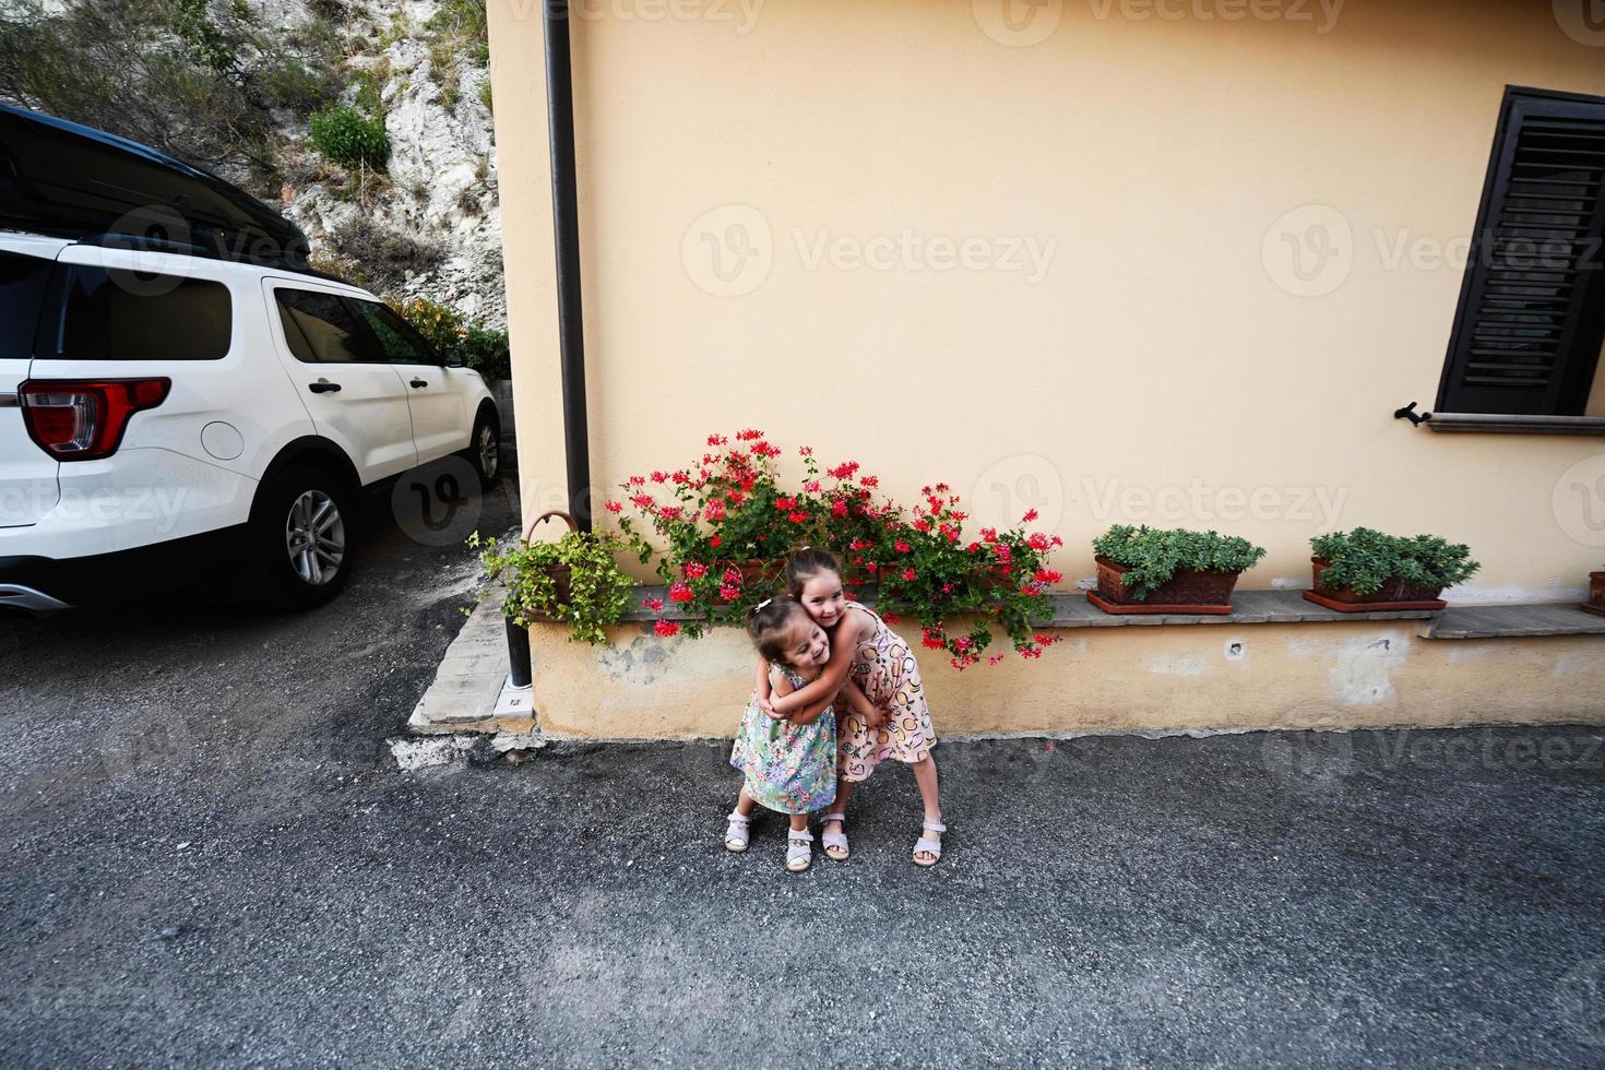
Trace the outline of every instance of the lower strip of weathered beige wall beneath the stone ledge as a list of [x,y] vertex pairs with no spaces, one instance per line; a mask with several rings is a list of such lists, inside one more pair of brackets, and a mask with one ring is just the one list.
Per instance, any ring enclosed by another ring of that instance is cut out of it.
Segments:
[[[1042,661],[960,674],[921,658],[937,732],[1605,722],[1605,643],[1589,635],[1427,640],[1411,621],[1058,634]],[[751,691],[753,653],[730,627],[701,640],[618,627],[592,648],[536,626],[531,656],[534,709],[552,736],[729,736]]]

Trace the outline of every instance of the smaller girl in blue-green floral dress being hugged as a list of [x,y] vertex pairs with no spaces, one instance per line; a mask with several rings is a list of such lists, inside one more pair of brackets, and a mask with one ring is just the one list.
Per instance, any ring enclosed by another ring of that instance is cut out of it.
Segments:
[[791,817],[786,869],[801,873],[814,858],[807,815],[823,810],[836,797],[836,717],[831,703],[846,698],[860,715],[875,714],[875,707],[849,683],[839,696],[831,690],[819,701],[796,704],[790,715],[770,714],[758,703],[758,695],[767,698],[770,693],[770,666],[782,672],[774,693],[793,695],[819,679],[830,663],[830,637],[786,595],[759,603],[748,614],[746,632],[762,659],[758,693],[748,703],[730,752],[730,765],[746,775],[746,783],[730,813],[724,845],[735,852],[746,850],[753,809],[762,804]]

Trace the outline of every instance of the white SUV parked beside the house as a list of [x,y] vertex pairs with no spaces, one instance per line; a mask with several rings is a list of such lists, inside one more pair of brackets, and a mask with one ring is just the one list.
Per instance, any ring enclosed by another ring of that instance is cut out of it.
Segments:
[[488,484],[478,372],[310,271],[0,231],[0,606],[193,578],[221,545],[327,602],[364,486],[449,454]]

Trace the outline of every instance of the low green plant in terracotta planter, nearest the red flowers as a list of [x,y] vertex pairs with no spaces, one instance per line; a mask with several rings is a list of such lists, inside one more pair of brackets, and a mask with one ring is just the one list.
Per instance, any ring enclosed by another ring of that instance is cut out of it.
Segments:
[[1098,589],[1087,600],[1104,613],[1221,614],[1265,547],[1215,531],[1114,525],[1093,539],[1093,555]]

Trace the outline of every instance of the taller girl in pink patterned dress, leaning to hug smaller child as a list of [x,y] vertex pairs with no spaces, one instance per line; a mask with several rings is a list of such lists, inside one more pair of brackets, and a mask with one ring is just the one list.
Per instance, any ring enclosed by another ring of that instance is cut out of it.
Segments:
[[913,845],[913,861],[918,866],[934,866],[942,857],[942,833],[947,826],[942,825],[936,759],[931,757],[936,728],[931,725],[913,651],[873,610],[846,602],[841,566],[825,550],[802,547],[793,553],[786,561],[786,589],[831,637],[835,653],[817,680],[790,695],[769,698],[759,687],[759,704],[783,715],[833,695],[843,683],[857,683],[881,714],[872,720],[854,712],[838,725],[836,805],[825,813],[825,853],[838,861],[847,857],[847,797],[854,784],[868,780],[883,760],[896,759],[913,770],[924,802],[924,826]]

